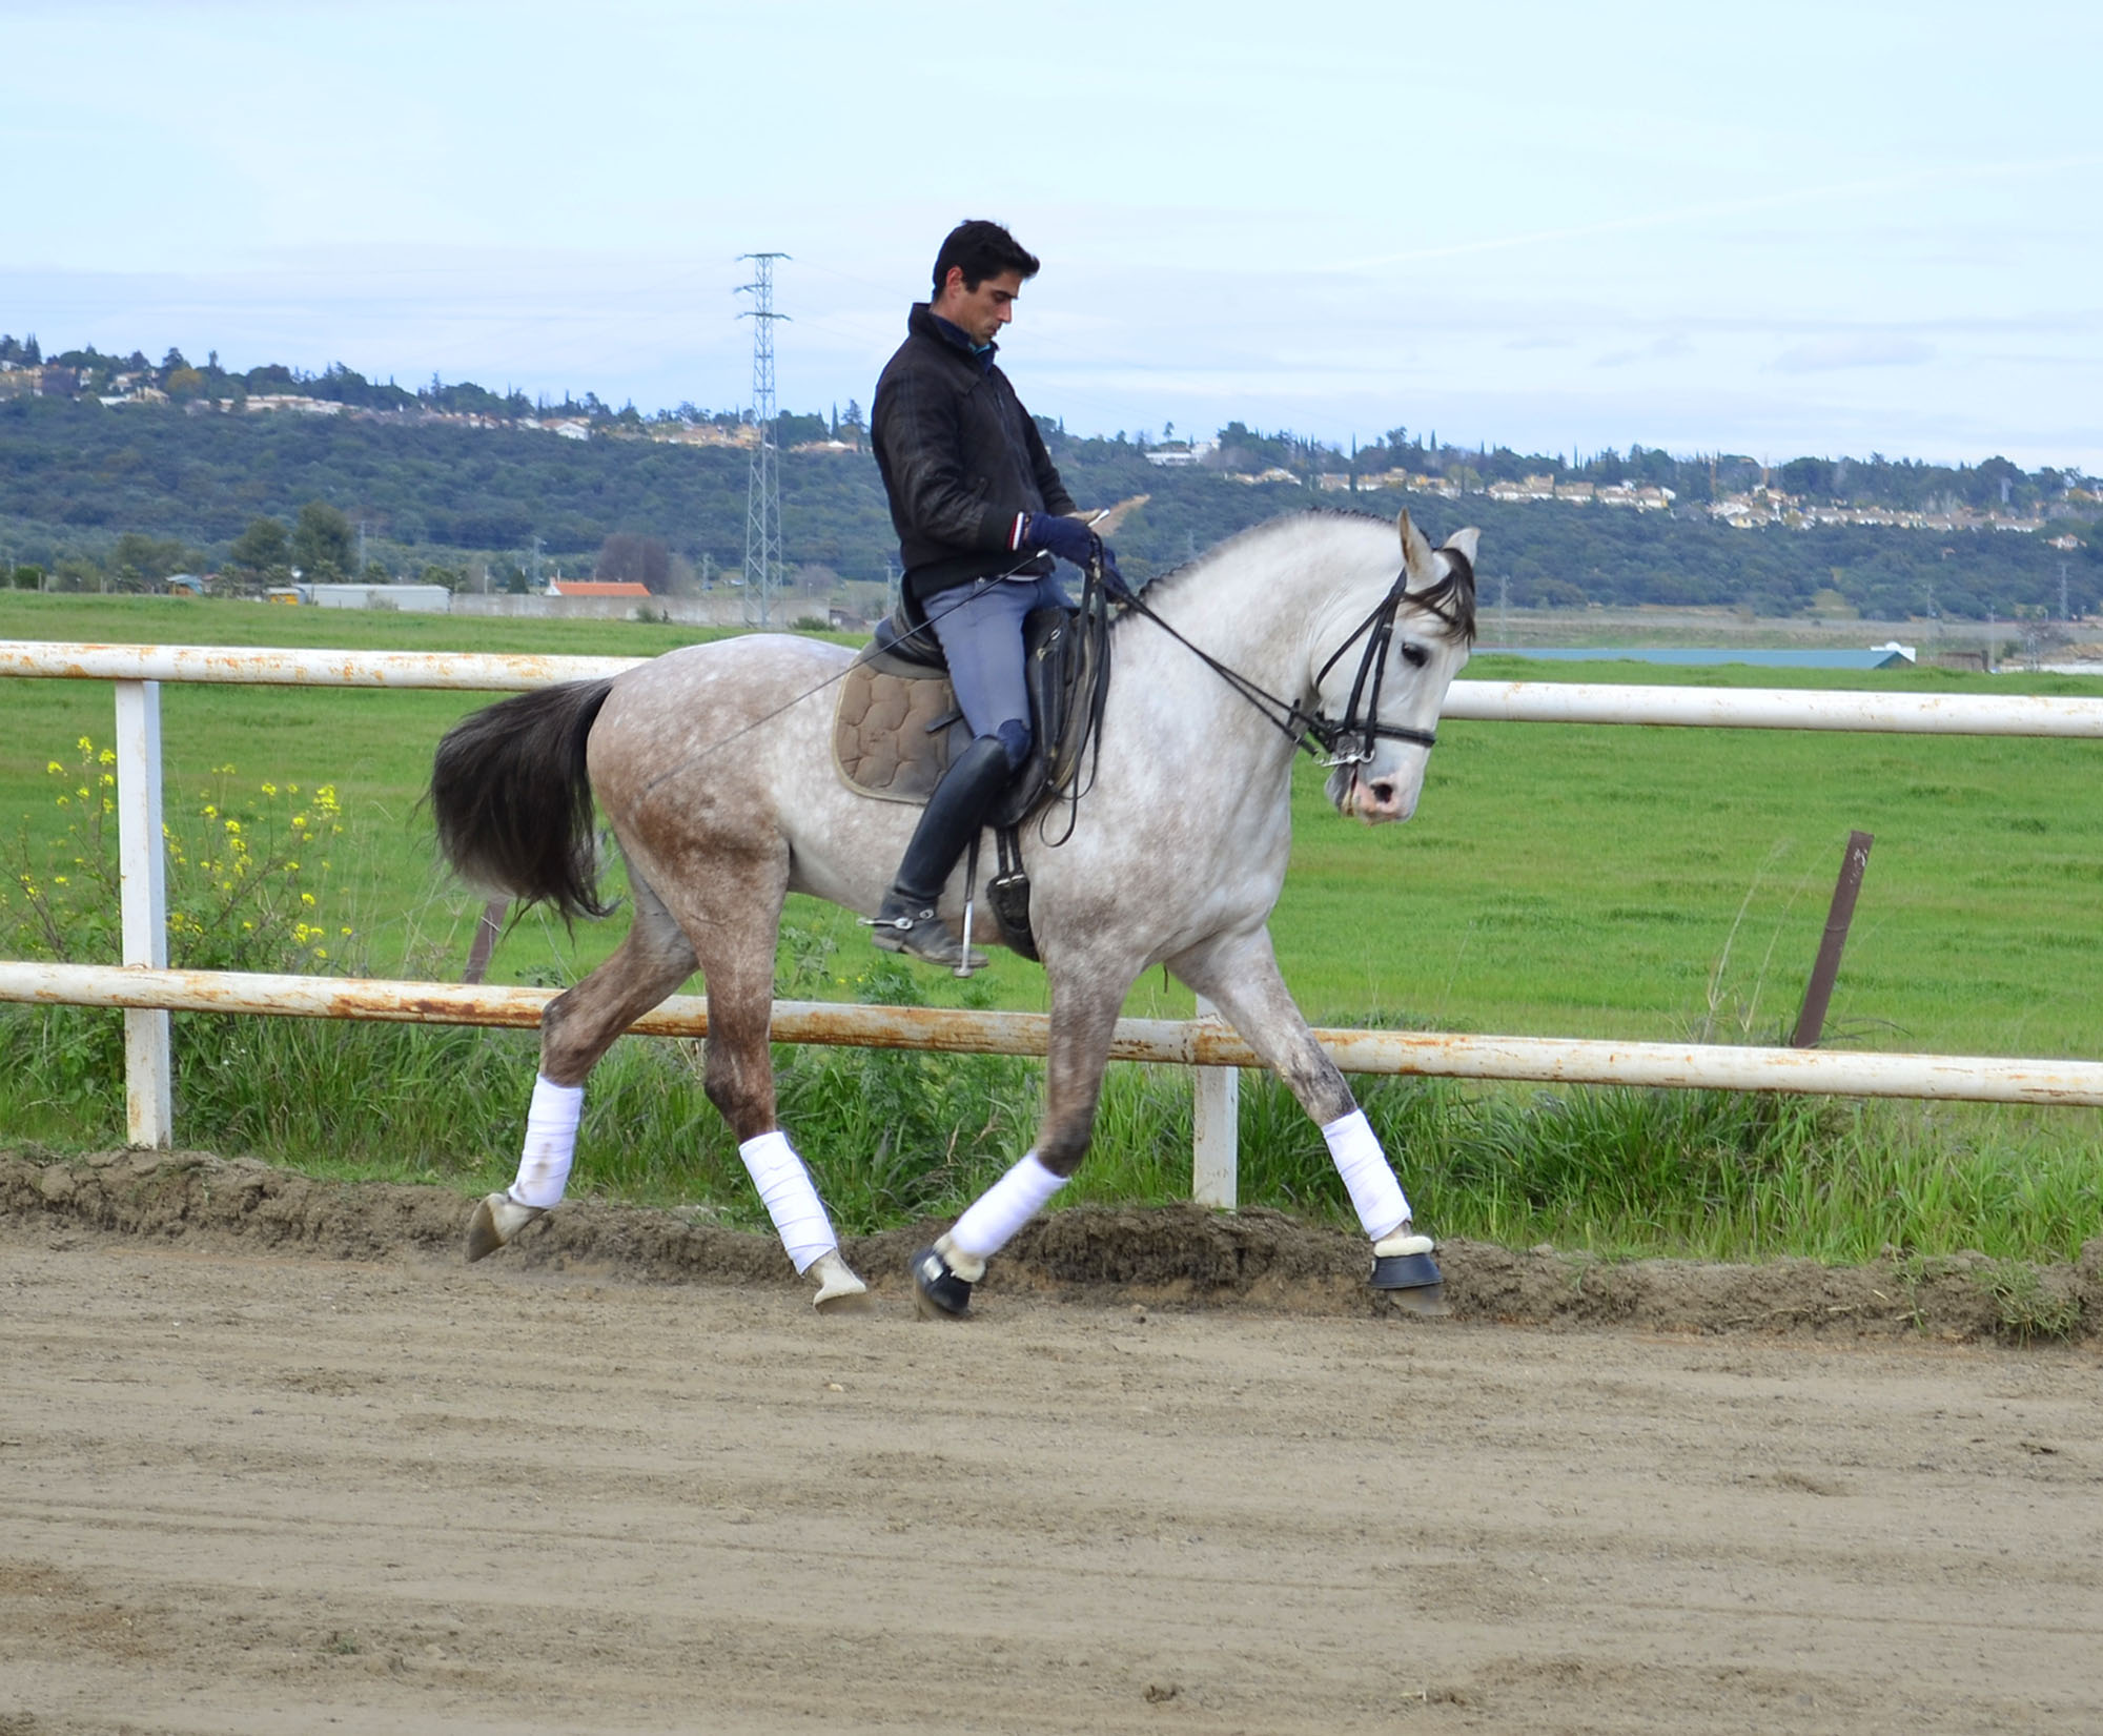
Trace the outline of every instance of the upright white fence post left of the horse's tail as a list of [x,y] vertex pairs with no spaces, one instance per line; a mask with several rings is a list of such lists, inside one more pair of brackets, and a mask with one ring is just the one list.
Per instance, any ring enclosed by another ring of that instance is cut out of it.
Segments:
[[[168,851],[160,826],[160,683],[118,681],[118,872],[124,963],[168,969]],[[124,1122],[132,1145],[175,1143],[168,1015],[124,1013]]]

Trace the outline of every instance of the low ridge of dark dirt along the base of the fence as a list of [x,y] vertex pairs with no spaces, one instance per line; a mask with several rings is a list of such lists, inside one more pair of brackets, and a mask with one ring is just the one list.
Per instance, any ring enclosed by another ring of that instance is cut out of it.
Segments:
[[[0,1221],[69,1225],[151,1240],[240,1242],[318,1259],[456,1257],[467,1202],[444,1187],[315,1181],[204,1154],[103,1152],[78,1160],[0,1152]],[[906,1257],[938,1225],[850,1238],[873,1288],[904,1290]],[[683,1221],[677,1213],[576,1200],[530,1227],[501,1259],[604,1272],[650,1284],[791,1284],[772,1236]],[[2103,1324],[2103,1240],[2078,1261],[2023,1265],[1962,1253],[1830,1267],[1600,1261],[1445,1242],[1447,1301],[1459,1320],[1628,1326],[1661,1332],[1825,1337],[2078,1339]],[[1272,1211],[1220,1215],[1190,1204],[1075,1206],[1026,1227],[986,1295],[1070,1293],[1155,1305],[1239,1305],[1295,1314],[1377,1314],[1361,1238]]]

